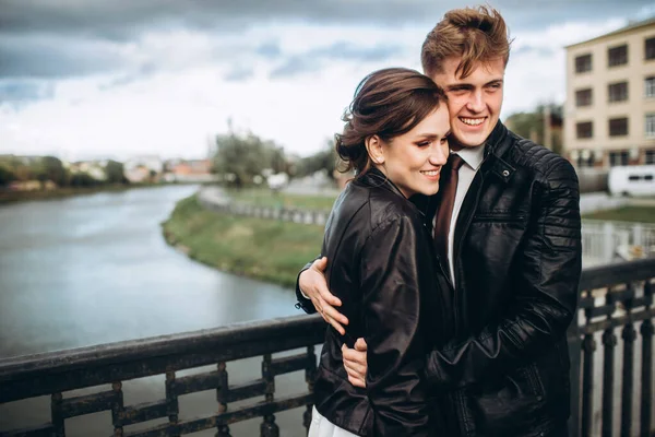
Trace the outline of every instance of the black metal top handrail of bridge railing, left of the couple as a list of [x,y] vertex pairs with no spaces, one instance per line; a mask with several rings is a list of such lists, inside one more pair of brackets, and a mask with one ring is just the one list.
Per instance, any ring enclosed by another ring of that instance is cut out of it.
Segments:
[[[0,390],[0,403],[11,400],[48,394],[52,385],[66,386],[57,381],[58,375],[83,371],[92,375],[85,379],[94,382],[111,382],[110,377],[95,376],[94,371],[106,369],[112,365],[126,363],[153,363],[152,368],[128,371],[135,377],[151,376],[162,373],[157,358],[189,356],[198,354],[199,359],[193,366],[175,366],[166,364],[167,369],[182,369],[216,363],[258,356],[264,353],[277,352],[281,344],[290,350],[307,346],[312,341],[320,343],[325,324],[314,316],[291,316],[267,320],[239,322],[213,329],[189,331],[183,333],[157,335],[139,340],[127,340],[107,344],[83,346],[64,351],[45,352],[33,355],[22,355],[0,359],[0,387],[13,387],[21,381],[29,381],[34,377],[41,378],[41,385],[26,383],[22,387],[29,393],[16,393]],[[252,344],[252,347],[248,347]],[[216,351],[209,356],[207,351]],[[128,375],[116,375],[117,379],[129,379]],[[47,379],[47,381],[43,379]],[[87,381],[88,382],[88,381]],[[79,387],[85,387],[80,383]]]

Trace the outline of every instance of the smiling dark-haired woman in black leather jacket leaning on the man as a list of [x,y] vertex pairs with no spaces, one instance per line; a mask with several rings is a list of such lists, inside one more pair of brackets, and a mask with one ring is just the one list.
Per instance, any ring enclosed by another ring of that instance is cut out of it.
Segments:
[[[336,200],[322,256],[350,320],[325,334],[310,437],[434,436],[439,416],[422,380],[425,355],[446,338],[446,291],[429,224],[409,201],[439,190],[450,132],[445,96],[429,78],[385,69],[359,84],[336,151],[357,176]],[[348,382],[341,347],[368,344],[367,388]]]

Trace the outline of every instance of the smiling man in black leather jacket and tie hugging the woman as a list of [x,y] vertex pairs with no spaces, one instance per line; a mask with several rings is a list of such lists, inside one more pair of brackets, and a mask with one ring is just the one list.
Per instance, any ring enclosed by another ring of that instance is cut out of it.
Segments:
[[[453,435],[562,437],[565,332],[581,272],[577,178],[564,158],[500,122],[510,43],[498,11],[478,7],[448,12],[422,46],[424,72],[444,88],[451,116],[450,168],[425,203],[456,332],[427,356],[426,376],[448,393]],[[299,306],[344,333],[326,262],[299,274]],[[344,365],[364,387],[362,340],[357,349],[344,346]]]

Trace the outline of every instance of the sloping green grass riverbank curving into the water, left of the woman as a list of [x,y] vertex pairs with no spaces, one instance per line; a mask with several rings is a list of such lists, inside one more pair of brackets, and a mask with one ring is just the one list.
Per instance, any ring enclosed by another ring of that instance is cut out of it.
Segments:
[[294,286],[323,240],[323,226],[216,214],[195,196],[178,202],[163,228],[169,244],[200,262],[284,286]]

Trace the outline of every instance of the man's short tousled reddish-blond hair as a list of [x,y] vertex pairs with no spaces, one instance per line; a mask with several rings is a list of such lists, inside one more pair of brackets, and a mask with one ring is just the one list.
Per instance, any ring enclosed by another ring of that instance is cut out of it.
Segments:
[[505,22],[496,9],[453,9],[426,37],[420,60],[424,72],[432,76],[443,72],[446,58],[461,58],[455,75],[466,78],[479,62],[502,59],[507,66],[511,43]]

